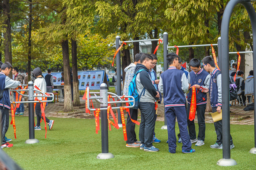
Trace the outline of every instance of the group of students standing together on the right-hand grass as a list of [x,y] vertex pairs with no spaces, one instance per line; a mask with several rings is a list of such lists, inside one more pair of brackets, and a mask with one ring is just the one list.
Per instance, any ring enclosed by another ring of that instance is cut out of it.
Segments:
[[[192,59],[189,62],[191,72],[181,66],[181,58],[175,53],[167,56],[168,70],[160,75],[160,79],[154,71],[157,64],[157,56],[154,54],[139,53],[135,56],[135,63],[130,64],[126,71],[124,81],[124,95],[128,95],[128,87],[133,76],[136,75],[136,89],[140,97],[139,110],[141,123],[139,127],[139,140],[135,133],[135,123],[127,118],[127,147],[138,147],[148,152],[157,152],[158,148],[153,142],[161,142],[155,136],[154,126],[156,121],[157,104],[162,102],[165,105],[167,120],[169,152],[176,153],[177,138],[175,134],[175,121],[177,118],[180,133],[178,143],[182,143],[183,153],[193,153],[192,144],[195,146],[204,145],[205,140],[205,109],[207,104],[207,92],[210,94],[212,112],[221,112],[222,108],[222,81],[221,72],[215,68],[214,59],[211,56],[204,57],[202,63],[199,59]],[[202,67],[202,66],[203,67]],[[143,70],[143,71],[141,71]],[[211,72],[211,74],[209,74]],[[194,120],[189,120],[190,104],[192,100],[192,87],[196,89],[196,111],[199,125],[199,132],[196,136]],[[188,94],[187,91],[189,90]],[[186,100],[187,98],[187,100]],[[188,103],[188,106],[187,106]],[[137,120],[138,110],[130,108],[131,118]],[[222,120],[214,122],[217,140],[211,148],[222,149]],[[234,148],[230,136],[230,149]]]

